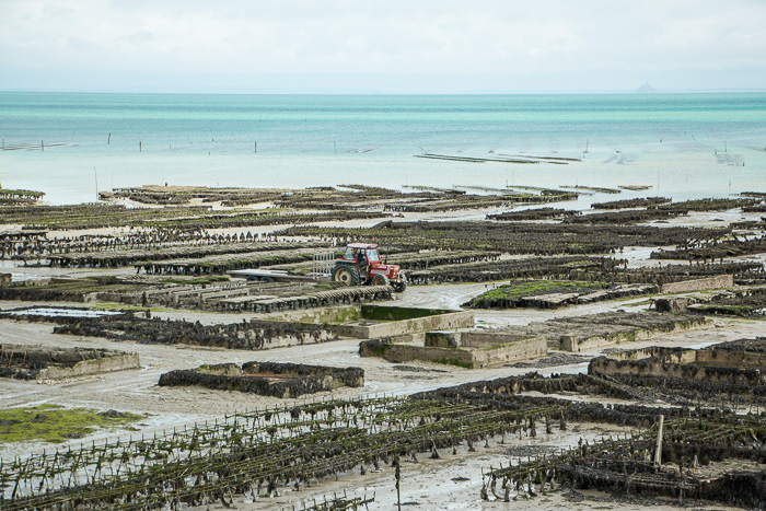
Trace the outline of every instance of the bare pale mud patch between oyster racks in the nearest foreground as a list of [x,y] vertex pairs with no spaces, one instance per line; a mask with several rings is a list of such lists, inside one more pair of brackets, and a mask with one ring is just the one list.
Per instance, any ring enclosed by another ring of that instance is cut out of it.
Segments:
[[[465,449],[457,455],[451,452],[440,452],[440,460],[420,456],[418,463],[406,461],[402,463],[401,502],[403,510],[678,510],[677,500],[624,498],[615,500],[611,495],[593,491],[558,490],[536,498],[485,501],[480,498],[481,469],[490,466],[503,466],[510,460],[554,452],[561,444],[576,444],[579,439],[591,440],[616,435],[627,430],[618,428],[604,429],[591,425],[574,425],[565,435],[538,435],[536,439],[506,439],[504,444],[499,439],[490,441],[489,448],[477,446],[475,453]],[[382,466],[381,472],[368,471],[359,476],[358,471],[338,477],[337,480],[322,481],[318,486],[301,488],[300,491],[288,490],[270,499],[239,499],[237,509],[270,510],[270,509],[302,509],[313,504],[314,500],[322,502],[325,497],[333,495],[348,497],[372,497],[375,501],[371,510],[396,509],[397,496],[394,486],[394,468]],[[696,510],[733,510],[726,506],[710,506],[699,502],[685,502],[685,507]],[[216,506],[211,509],[224,509]]]

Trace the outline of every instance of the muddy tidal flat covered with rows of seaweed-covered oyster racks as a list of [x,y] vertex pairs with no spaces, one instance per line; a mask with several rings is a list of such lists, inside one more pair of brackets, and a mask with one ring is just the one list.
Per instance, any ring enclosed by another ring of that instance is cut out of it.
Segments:
[[[3,345],[118,350],[140,367],[3,379],[3,408],[142,418],[55,446],[0,432],[2,507],[762,507],[766,194],[653,191],[620,191],[625,202],[604,190],[364,185],[146,186],[69,206],[19,196],[0,208]],[[568,208],[582,193],[594,207]],[[334,281],[350,243],[376,244],[406,289]],[[428,344],[444,329],[410,314],[411,328],[379,339],[404,351],[486,355],[527,336],[546,353],[480,369],[361,357],[364,339],[337,326],[385,327],[355,312],[370,305],[473,314],[444,346]],[[646,355],[659,347],[712,369],[654,374],[675,361]],[[651,369],[591,363],[608,357]],[[281,398],[158,385],[248,362],[358,368],[363,386]]]

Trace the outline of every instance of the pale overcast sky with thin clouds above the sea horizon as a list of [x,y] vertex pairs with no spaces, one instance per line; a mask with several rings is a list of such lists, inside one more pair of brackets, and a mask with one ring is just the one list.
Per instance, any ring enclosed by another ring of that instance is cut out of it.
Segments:
[[0,90],[766,90],[766,0],[0,0]]

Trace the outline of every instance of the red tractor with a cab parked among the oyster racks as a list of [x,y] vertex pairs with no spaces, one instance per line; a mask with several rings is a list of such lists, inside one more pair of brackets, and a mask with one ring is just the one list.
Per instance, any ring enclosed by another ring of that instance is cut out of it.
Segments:
[[401,293],[407,289],[407,276],[397,265],[381,262],[378,245],[351,243],[346,246],[343,258],[335,262],[333,280],[347,286],[393,286]]

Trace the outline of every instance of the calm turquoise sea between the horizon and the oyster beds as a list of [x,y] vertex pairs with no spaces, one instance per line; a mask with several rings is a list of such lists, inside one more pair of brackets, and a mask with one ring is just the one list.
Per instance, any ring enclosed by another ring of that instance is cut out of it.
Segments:
[[[96,182],[100,190],[164,183],[651,185],[623,197],[676,200],[766,191],[766,93],[0,93],[0,185],[46,191],[51,204],[92,201]],[[10,150],[19,146],[30,149]],[[582,161],[414,158],[422,152]]]

